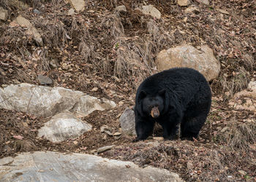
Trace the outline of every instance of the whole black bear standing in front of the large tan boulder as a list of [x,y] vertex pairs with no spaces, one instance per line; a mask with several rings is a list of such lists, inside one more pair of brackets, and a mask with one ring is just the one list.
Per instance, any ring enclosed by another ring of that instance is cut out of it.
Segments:
[[171,68],[149,76],[138,87],[135,101],[135,141],[152,135],[155,122],[163,137],[192,140],[206,122],[211,108],[211,88],[205,77],[192,68]]

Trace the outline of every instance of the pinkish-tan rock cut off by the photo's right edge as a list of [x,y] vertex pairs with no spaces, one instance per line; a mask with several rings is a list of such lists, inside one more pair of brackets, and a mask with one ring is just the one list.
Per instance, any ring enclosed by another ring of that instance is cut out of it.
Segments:
[[256,81],[249,82],[247,90],[236,93],[229,105],[237,110],[248,110],[256,113]]

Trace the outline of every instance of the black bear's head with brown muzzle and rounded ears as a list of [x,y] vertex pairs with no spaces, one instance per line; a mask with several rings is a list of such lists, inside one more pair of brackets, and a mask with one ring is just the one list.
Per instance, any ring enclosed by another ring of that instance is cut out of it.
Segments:
[[167,110],[167,95],[165,90],[160,90],[154,95],[141,90],[138,98],[140,100],[138,111],[142,116],[151,116],[156,119]]

